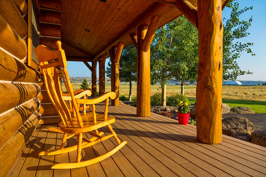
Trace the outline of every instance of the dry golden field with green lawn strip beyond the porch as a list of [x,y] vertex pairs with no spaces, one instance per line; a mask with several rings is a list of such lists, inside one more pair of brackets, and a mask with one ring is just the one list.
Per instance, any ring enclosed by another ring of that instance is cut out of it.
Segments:
[[[62,85],[63,90],[64,84]],[[73,89],[79,89],[80,84],[73,84]],[[99,90],[99,85],[97,85]],[[137,85],[132,85],[132,98],[137,95]],[[111,85],[105,85],[105,91],[111,91]],[[119,85],[120,96],[128,97],[129,84]],[[161,92],[160,85],[151,85],[151,95]],[[167,96],[173,93],[180,93],[180,85],[167,85]],[[185,85],[185,95],[189,97],[190,103],[196,101],[196,85]],[[228,104],[231,108],[246,106],[251,108],[255,113],[266,113],[266,86],[223,86],[222,91],[223,103]]]

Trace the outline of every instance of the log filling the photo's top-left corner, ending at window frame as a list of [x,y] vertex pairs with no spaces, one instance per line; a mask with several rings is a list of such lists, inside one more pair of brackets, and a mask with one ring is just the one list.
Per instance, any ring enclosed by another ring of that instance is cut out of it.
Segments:
[[0,14],[20,38],[27,36],[28,26],[13,0],[0,1]]

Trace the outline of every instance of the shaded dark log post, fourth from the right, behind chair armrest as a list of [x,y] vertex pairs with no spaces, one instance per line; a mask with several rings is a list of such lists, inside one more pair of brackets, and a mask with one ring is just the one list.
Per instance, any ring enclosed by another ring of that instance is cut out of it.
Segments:
[[98,58],[99,62],[99,95],[105,93],[105,60],[106,54]]

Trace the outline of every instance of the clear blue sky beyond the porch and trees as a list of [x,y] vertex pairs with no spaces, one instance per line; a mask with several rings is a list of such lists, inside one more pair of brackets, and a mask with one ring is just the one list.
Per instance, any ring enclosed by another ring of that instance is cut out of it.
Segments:
[[[238,80],[262,80],[266,81],[266,7],[265,0],[238,0],[239,8],[253,6],[253,10],[248,10],[240,16],[240,20],[247,21],[251,16],[253,20],[251,27],[248,29],[250,35],[248,37],[238,39],[238,42],[242,43],[254,43],[251,46],[251,50],[256,56],[252,56],[247,52],[241,54],[237,59],[237,63],[241,70],[251,71],[252,75],[239,76]],[[230,17],[229,8],[225,7],[222,16],[225,18]],[[224,22],[225,23],[225,22]],[[109,59],[106,60],[105,67],[107,67]],[[70,77],[91,77],[90,70],[85,66],[83,62],[68,62],[68,72]],[[98,77],[98,65],[97,65],[97,77]]]

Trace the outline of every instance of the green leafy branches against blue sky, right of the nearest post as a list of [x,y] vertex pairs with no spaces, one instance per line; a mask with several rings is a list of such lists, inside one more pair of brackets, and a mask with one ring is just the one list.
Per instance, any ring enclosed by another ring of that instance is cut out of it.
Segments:
[[223,21],[226,21],[223,27],[223,80],[236,80],[240,75],[252,74],[250,71],[240,70],[236,59],[240,58],[241,53],[245,51],[255,56],[250,49],[253,43],[235,42],[235,40],[247,37],[250,34],[247,30],[251,26],[253,16],[248,21],[240,20],[239,16],[247,10],[252,10],[253,6],[239,10],[239,3],[233,3],[233,1],[229,1],[226,5],[229,9],[225,8],[225,10],[231,10],[230,18],[223,18]]

